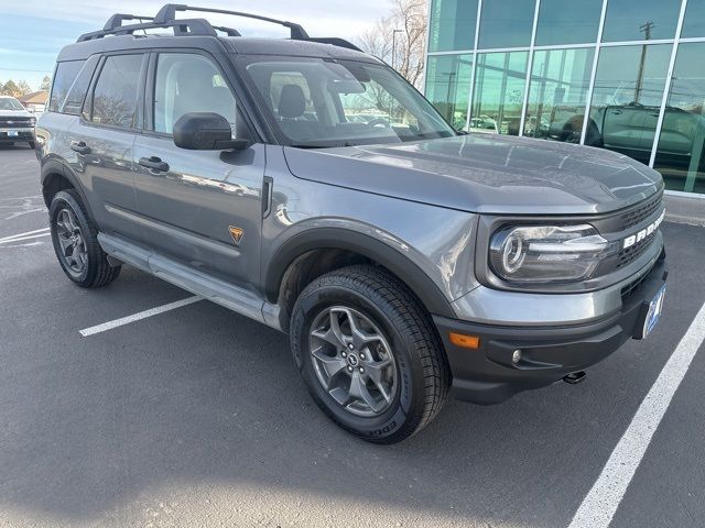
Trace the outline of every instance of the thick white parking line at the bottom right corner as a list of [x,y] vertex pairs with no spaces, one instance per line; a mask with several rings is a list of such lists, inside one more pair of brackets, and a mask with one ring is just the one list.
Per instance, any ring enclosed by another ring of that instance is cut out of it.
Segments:
[[641,463],[651,438],[705,341],[705,305],[643,399],[627,431],[617,443],[597,482],[568,528],[606,528]]

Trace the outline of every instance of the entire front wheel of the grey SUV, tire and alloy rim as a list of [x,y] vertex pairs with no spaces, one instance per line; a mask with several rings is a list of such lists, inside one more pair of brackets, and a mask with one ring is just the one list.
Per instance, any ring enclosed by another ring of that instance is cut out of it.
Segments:
[[316,404],[367,441],[409,438],[447,399],[449,367],[433,323],[382,268],[350,266],[310,284],[294,306],[290,339]]

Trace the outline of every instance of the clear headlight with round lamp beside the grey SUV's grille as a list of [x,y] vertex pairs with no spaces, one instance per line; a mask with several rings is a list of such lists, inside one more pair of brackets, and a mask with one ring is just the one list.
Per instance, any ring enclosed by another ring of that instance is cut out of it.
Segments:
[[590,278],[608,254],[592,226],[513,227],[492,237],[489,264],[508,282],[574,282]]

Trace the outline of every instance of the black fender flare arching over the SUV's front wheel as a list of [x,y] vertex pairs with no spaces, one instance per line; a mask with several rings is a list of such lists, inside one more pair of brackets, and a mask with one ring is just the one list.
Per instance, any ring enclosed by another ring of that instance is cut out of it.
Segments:
[[411,258],[372,237],[340,228],[313,228],[284,242],[264,274],[267,298],[276,302],[289,267],[301,255],[319,249],[347,250],[371,258],[404,282],[430,314],[451,319],[457,317],[441,288]]

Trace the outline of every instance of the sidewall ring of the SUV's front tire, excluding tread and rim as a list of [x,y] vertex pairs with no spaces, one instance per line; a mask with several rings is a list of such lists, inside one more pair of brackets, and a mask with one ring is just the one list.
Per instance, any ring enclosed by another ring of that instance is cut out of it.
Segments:
[[[321,311],[333,306],[352,308],[370,318],[392,348],[398,374],[397,393],[391,406],[380,416],[359,417],[345,410],[316,376],[308,350],[308,334]],[[339,426],[371,441],[383,441],[410,426],[408,417],[415,415],[413,407],[417,405],[417,395],[421,395],[423,387],[423,375],[416,372],[410,346],[395,328],[394,315],[390,311],[390,307],[375,296],[366,297],[347,287],[326,285],[306,288],[297,300],[292,317],[292,353],[314,400]]]

